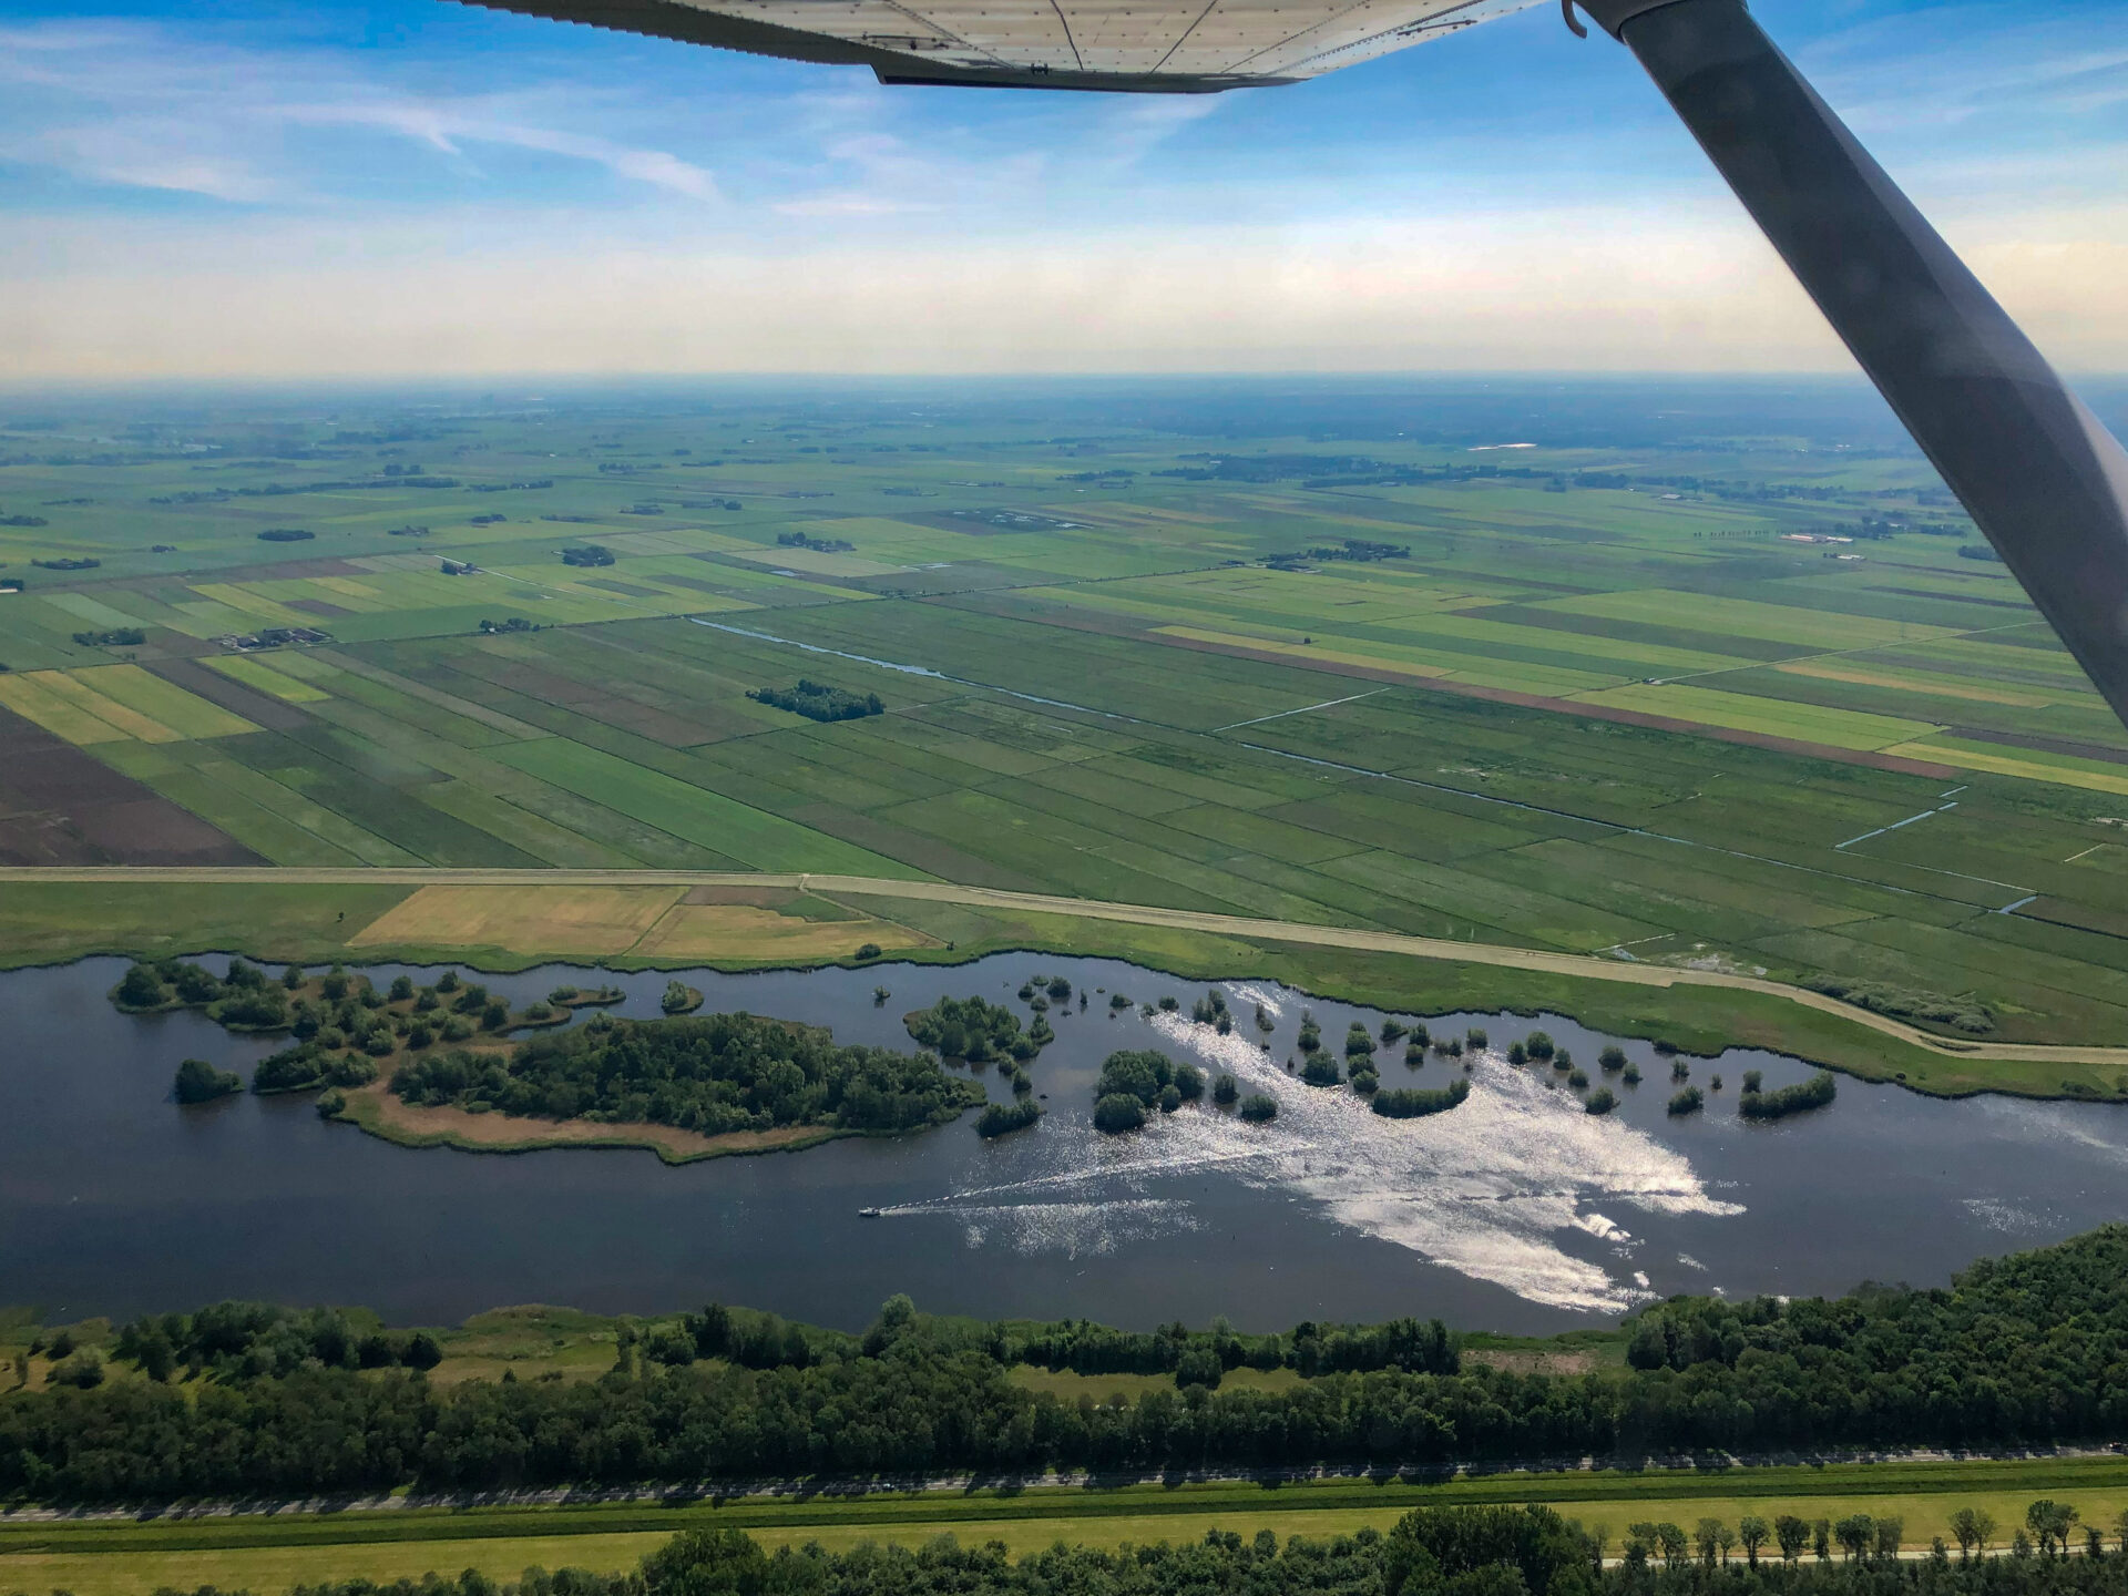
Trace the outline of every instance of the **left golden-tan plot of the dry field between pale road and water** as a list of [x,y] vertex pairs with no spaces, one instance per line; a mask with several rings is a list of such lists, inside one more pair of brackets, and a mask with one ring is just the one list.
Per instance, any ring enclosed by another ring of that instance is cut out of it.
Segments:
[[626,953],[683,887],[421,887],[349,947],[502,947],[513,953]]

